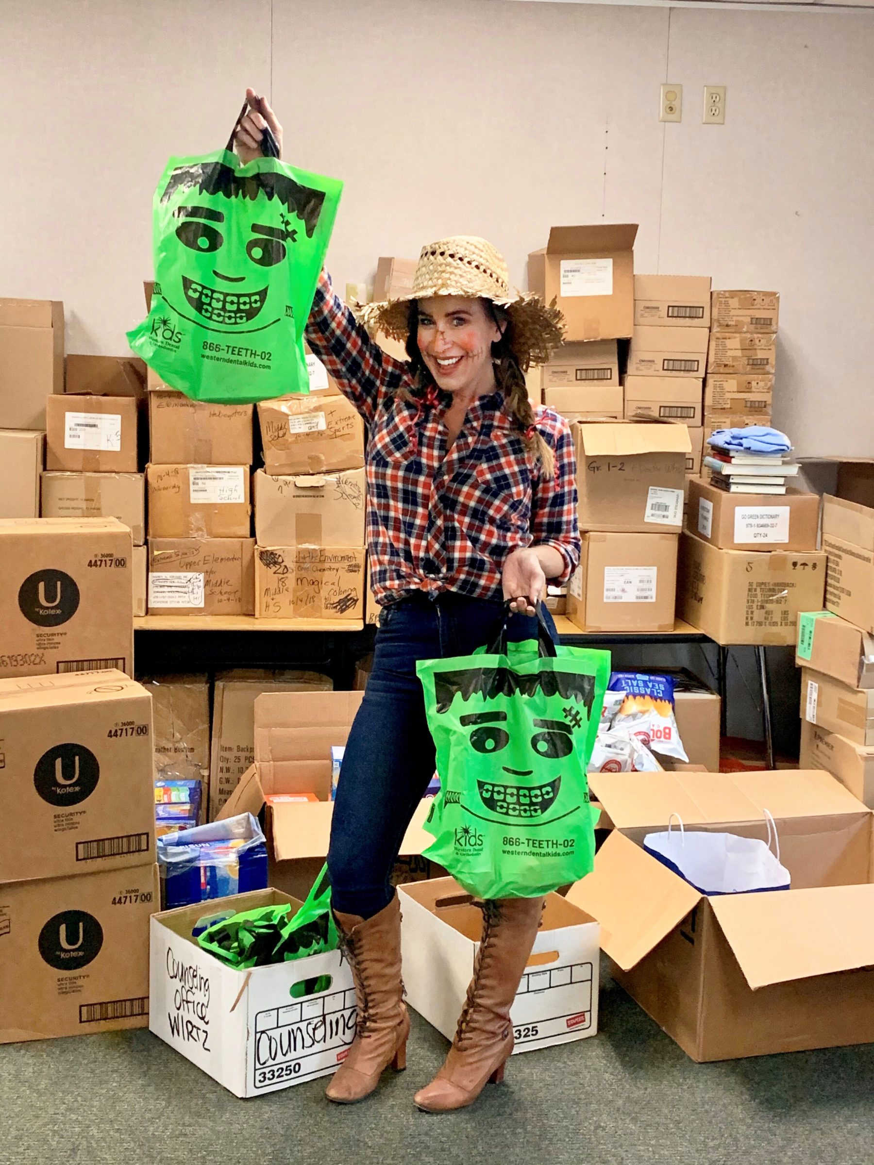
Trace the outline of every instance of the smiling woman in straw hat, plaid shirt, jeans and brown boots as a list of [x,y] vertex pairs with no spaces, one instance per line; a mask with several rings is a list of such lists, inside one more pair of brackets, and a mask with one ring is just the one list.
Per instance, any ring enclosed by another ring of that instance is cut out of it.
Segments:
[[[249,90],[251,103],[255,99]],[[260,155],[266,103],[237,135]],[[388,356],[323,273],[306,340],[368,428],[371,584],[381,605],[367,691],[350,732],[327,866],[334,916],[355,980],[358,1031],[327,1086],[362,1100],[389,1064],[406,1066],[409,1017],[401,982],[401,913],[389,882],[403,834],[434,774],[416,661],[470,655],[507,617],[509,638],[536,635],[547,579],[579,562],[575,457],[566,421],[531,410],[523,369],[561,341],[561,316],[514,297],[507,268],[482,239],[422,250],[409,298],[369,304],[372,332],[406,341]],[[555,635],[555,627],[550,628]],[[514,626],[515,624],[515,626]],[[472,1103],[503,1078],[509,1009],[537,933],[543,898],[481,905],[484,930],[446,1061],[415,1096],[429,1111]]]

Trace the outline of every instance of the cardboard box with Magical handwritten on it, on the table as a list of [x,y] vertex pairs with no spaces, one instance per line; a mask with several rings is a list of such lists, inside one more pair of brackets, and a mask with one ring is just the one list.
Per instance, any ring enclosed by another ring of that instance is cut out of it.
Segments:
[[364,548],[258,546],[259,619],[364,619]]

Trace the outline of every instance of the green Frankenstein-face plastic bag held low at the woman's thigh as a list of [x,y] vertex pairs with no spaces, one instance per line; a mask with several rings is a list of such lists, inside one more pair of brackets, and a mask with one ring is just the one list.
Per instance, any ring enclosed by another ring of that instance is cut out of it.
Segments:
[[480,898],[533,898],[588,874],[586,765],[609,652],[556,648],[545,629],[540,644],[507,645],[505,630],[485,654],[417,672],[440,778],[425,855]]

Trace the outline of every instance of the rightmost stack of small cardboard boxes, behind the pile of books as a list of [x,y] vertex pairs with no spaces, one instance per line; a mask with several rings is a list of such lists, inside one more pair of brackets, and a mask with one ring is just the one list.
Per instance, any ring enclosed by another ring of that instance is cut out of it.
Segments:
[[714,291],[704,383],[704,439],[717,429],[769,425],[777,291]]

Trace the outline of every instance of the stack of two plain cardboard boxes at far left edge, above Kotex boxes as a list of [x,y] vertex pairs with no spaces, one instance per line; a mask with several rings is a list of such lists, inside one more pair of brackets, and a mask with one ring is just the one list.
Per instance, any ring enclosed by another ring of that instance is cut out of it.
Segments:
[[64,305],[0,299],[0,518],[38,517],[45,397],[64,390]]

